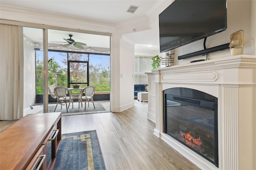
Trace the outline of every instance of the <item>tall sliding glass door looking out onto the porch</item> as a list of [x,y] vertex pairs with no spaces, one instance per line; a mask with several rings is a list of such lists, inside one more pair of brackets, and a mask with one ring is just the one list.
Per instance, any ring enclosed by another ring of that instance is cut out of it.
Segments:
[[65,41],[69,34],[74,40],[86,43],[95,39],[91,36],[103,38],[101,42],[109,43],[110,39],[100,35],[90,35],[89,39],[89,34],[24,27],[24,60],[28,65],[24,68],[24,115],[44,113],[48,105],[56,105],[55,87],[93,85],[97,92],[110,92],[109,48],[84,45],[84,49],[78,49]]

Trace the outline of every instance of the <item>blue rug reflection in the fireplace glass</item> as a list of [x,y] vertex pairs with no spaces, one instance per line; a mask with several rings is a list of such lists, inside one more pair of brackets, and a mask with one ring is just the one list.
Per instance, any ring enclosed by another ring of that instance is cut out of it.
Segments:
[[202,117],[193,117],[186,119],[190,122],[193,122],[197,125],[201,125],[208,129],[214,130],[214,116],[202,116]]

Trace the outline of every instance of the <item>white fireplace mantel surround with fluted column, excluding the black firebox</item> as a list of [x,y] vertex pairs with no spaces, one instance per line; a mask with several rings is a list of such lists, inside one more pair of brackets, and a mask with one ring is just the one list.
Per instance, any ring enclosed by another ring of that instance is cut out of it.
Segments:
[[[156,136],[201,169],[256,170],[256,56],[175,65],[152,73]],[[196,89],[218,98],[219,168],[163,132],[163,91],[173,87]]]

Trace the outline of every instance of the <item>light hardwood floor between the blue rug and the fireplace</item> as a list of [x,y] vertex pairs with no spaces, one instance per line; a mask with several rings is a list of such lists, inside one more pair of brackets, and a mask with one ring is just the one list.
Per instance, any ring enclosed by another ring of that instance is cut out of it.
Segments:
[[62,133],[96,129],[107,170],[198,170],[199,168],[153,134],[148,105],[119,113],[62,117]]

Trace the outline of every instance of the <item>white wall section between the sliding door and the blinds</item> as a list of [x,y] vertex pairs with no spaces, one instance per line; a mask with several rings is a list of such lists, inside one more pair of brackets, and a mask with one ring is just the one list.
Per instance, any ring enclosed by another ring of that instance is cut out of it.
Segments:
[[134,43],[112,34],[111,43],[111,111],[120,112],[134,106]]

